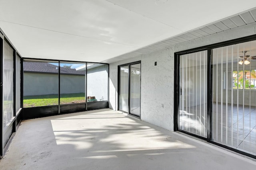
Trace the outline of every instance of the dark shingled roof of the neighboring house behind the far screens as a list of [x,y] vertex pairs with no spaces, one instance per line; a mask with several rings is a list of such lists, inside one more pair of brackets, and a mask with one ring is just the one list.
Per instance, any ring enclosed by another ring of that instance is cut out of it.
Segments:
[[[58,74],[58,66],[44,62],[24,62],[24,72],[42,72],[42,73],[56,73]],[[85,71],[77,71],[75,68],[60,67],[61,74],[80,74],[85,75]]]

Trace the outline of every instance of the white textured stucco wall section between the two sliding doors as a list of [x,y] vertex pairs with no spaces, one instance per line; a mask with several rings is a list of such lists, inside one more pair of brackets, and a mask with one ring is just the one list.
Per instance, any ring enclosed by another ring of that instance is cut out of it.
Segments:
[[173,124],[171,96],[174,91],[174,60],[171,54],[172,49],[164,49],[144,55],[141,66],[141,119],[169,130]]

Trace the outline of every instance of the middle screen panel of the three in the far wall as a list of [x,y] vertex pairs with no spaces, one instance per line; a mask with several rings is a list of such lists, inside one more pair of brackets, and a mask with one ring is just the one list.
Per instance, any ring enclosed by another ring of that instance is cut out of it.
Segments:
[[60,104],[85,103],[86,64],[60,63]]

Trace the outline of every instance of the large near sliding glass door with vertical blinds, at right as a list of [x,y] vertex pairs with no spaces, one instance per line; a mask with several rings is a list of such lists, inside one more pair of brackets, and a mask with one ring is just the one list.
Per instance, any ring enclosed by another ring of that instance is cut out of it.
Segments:
[[256,40],[176,53],[175,129],[256,156]]

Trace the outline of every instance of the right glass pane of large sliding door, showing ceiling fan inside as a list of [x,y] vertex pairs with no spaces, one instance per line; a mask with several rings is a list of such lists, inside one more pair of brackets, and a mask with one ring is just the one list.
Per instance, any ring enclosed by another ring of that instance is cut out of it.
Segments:
[[256,154],[256,41],[213,49],[213,141]]

